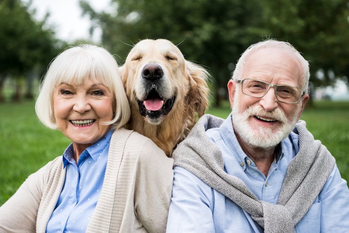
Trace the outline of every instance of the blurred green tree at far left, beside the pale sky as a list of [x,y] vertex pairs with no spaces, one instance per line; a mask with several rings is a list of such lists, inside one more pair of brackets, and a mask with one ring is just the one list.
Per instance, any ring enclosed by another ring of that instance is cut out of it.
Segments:
[[[15,82],[13,100],[18,101],[22,96],[24,77],[35,68],[47,66],[57,54],[59,44],[54,32],[45,27],[42,22],[33,19],[27,5],[20,0],[0,1],[0,100],[3,100],[3,83],[9,77]],[[30,87],[30,85],[29,85]],[[32,96],[27,88],[26,95]]]

